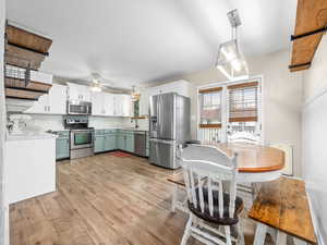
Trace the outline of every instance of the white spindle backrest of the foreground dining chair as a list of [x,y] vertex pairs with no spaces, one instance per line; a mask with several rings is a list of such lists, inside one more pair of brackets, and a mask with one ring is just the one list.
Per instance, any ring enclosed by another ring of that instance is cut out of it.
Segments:
[[[228,215],[229,218],[233,218],[237,197],[237,154],[229,158],[213,146],[185,145],[182,147],[180,145],[178,158],[183,169],[189,201],[205,212],[204,192],[208,192],[207,201],[210,216],[214,217],[214,206],[218,205],[219,218],[223,218],[223,198],[226,196],[223,193],[228,193]],[[214,195],[218,196],[215,198]],[[214,204],[215,199],[219,203]]]

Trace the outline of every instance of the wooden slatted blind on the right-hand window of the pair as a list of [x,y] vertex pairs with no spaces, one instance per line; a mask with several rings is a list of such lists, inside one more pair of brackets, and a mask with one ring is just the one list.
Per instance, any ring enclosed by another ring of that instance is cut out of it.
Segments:
[[229,122],[255,122],[258,115],[258,82],[228,86]]

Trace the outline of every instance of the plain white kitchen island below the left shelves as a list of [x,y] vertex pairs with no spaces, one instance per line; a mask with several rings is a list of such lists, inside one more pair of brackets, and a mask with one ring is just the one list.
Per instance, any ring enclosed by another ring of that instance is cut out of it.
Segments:
[[56,191],[56,136],[46,133],[8,135],[4,197],[13,204]]

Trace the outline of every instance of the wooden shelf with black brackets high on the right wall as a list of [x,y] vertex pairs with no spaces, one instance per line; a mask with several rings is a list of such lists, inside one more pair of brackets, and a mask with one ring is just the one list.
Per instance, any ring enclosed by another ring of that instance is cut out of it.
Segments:
[[326,26],[326,0],[298,0],[295,33],[291,38],[291,72],[310,69]]

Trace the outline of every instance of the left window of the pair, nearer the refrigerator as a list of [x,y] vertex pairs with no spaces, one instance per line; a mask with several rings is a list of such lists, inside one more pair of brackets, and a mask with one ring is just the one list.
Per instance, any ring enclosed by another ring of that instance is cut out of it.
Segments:
[[221,87],[199,90],[199,127],[221,127]]

